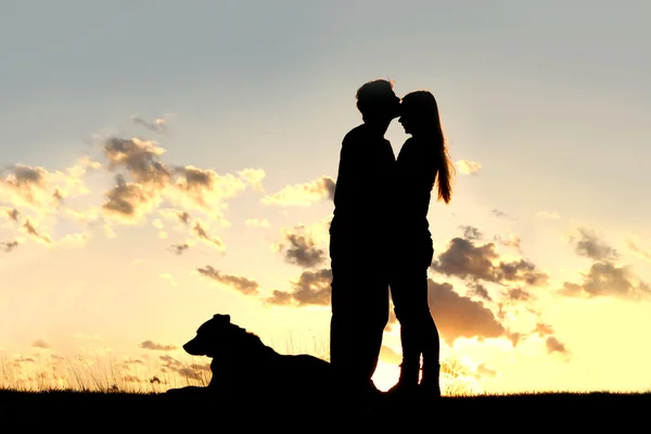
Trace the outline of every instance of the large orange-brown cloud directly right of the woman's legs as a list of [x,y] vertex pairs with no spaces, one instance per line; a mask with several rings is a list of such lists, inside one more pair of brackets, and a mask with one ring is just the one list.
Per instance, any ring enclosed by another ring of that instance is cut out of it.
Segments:
[[427,279],[427,301],[438,333],[449,344],[459,337],[503,337],[507,330],[482,302],[454,291],[450,283]]

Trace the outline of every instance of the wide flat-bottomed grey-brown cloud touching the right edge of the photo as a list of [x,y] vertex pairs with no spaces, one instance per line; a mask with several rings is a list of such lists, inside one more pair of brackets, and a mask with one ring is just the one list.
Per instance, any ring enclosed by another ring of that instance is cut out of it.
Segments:
[[627,266],[617,267],[609,261],[597,261],[587,273],[583,273],[583,282],[564,282],[560,290],[569,297],[617,297],[623,299],[648,299],[651,288],[637,279]]

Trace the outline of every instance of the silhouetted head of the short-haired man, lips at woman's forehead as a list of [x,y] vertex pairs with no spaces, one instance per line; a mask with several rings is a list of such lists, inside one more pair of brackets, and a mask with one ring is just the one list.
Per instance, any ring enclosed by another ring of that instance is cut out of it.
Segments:
[[394,93],[393,84],[376,79],[357,89],[357,108],[363,122],[391,122],[400,115],[400,99]]

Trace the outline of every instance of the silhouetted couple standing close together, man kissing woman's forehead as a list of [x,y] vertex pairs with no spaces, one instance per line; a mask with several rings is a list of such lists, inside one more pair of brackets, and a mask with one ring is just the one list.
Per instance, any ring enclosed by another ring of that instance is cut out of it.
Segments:
[[[426,90],[400,100],[393,81],[378,79],[358,89],[357,108],[363,123],[342,143],[330,226],[330,361],[348,396],[382,396],[371,378],[391,291],[403,362],[387,395],[437,398],[439,337],[427,302],[434,254],[427,210],[435,186],[437,200],[449,203],[454,173],[438,106]],[[397,158],[384,138],[395,118],[411,135]]]

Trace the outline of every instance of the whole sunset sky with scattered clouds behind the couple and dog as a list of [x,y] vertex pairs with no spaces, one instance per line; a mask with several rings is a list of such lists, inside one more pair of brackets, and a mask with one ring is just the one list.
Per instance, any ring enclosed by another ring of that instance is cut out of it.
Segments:
[[[651,388],[650,14],[642,0],[4,5],[3,372],[110,357],[135,383],[130,363],[189,376],[206,359],[181,345],[214,314],[327,358],[341,141],[361,122],[357,88],[388,78],[436,95],[457,167],[429,214],[430,307],[457,380]],[[408,137],[390,126],[396,155]],[[392,316],[383,390],[398,330]]]

